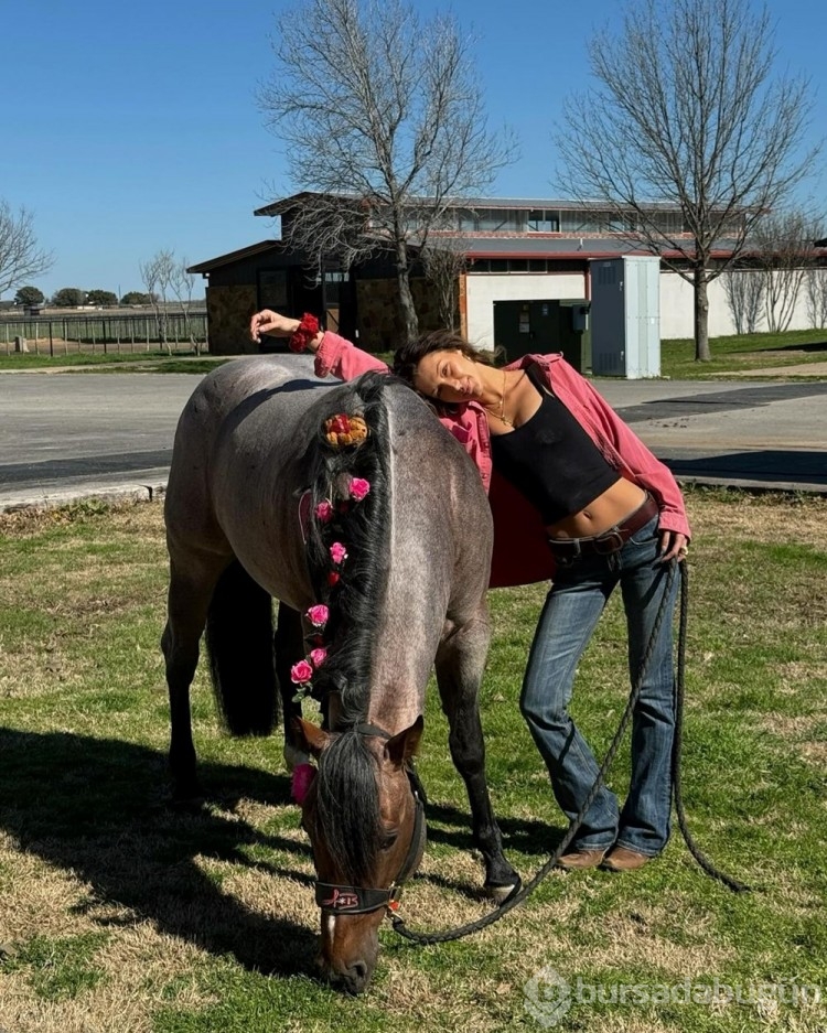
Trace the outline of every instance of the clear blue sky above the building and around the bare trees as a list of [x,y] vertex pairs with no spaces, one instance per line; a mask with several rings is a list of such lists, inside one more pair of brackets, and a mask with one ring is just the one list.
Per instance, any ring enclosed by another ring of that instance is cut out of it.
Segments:
[[[0,197],[35,215],[55,252],[39,278],[122,294],[160,248],[191,262],[266,239],[253,216],[281,183],[278,140],[255,101],[272,68],[270,34],[286,0],[0,0]],[[551,128],[587,85],[586,42],[619,0],[417,0],[451,10],[480,37],[493,125],[517,132],[520,161],[492,193],[550,197]],[[827,136],[827,3],[770,0],[780,65],[812,77],[813,136]],[[821,162],[827,161],[825,158]],[[827,212],[827,182],[810,193]],[[10,295],[7,295],[7,298]]]

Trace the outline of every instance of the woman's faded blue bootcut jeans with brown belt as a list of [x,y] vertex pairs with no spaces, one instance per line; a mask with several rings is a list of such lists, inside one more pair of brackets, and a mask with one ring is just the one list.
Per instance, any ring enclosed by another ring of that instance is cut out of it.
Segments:
[[[558,571],[543,607],[528,657],[520,710],[546,762],[557,803],[576,817],[599,765],[568,712],[577,666],[598,620],[620,584],[629,630],[629,668],[634,684],[668,584],[659,563],[658,518],[610,556],[589,556]],[[573,841],[577,850],[617,843],[654,857],[669,838],[672,744],[675,732],[672,617],[678,572],[632,715],[632,778],[619,814],[603,786]]]

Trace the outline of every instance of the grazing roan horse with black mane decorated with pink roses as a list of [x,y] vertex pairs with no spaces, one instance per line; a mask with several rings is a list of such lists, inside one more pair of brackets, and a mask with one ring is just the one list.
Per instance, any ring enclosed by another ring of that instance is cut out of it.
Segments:
[[[288,700],[322,702],[323,727],[297,719],[287,734],[293,761],[315,761],[301,806],[319,966],[355,994],[425,847],[412,757],[434,667],[485,892],[503,900],[519,884],[492,813],[477,699],[493,528],[473,463],[407,385],[368,373],[331,386],[297,377],[294,362],[219,367],[179,421],[164,504],[169,765],[174,798],[197,796],[190,685],[203,633],[230,733],[272,731],[277,669]],[[304,615],[293,664],[273,660],[273,600],[280,615]]]

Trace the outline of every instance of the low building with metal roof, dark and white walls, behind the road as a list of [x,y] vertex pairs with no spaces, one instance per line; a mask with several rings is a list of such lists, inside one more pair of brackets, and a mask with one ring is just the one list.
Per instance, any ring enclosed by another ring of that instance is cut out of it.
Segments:
[[[247,340],[253,312],[271,308],[291,315],[324,313],[329,329],[357,340],[368,351],[391,349],[400,327],[395,303],[396,281],[387,258],[342,269],[324,268],[290,248],[290,220],[313,195],[294,194],[256,211],[278,217],[281,238],[218,256],[190,268],[207,280],[210,346],[218,354],[258,348]],[[344,198],[343,198],[344,200]],[[680,212],[653,205],[653,216],[673,237],[690,235]],[[366,209],[369,232],[370,216]],[[733,227],[734,228],[734,227]],[[457,308],[461,332],[482,349],[504,347],[509,357],[528,351],[563,351],[582,368],[588,365],[589,305],[598,263],[624,255],[648,255],[636,245],[631,219],[619,223],[605,205],[544,198],[480,197],[451,209],[431,241],[443,238],[464,256],[458,275]],[[416,241],[416,222],[411,225]],[[411,247],[416,256],[415,244]],[[721,243],[719,257],[730,252]],[[677,252],[662,252],[677,260]],[[411,290],[422,330],[440,324],[433,284],[415,260]],[[711,336],[734,333],[723,286],[709,286]],[[663,338],[692,336],[692,289],[662,265],[659,334]],[[807,325],[803,315],[795,325]],[[264,347],[277,347],[265,342]]]

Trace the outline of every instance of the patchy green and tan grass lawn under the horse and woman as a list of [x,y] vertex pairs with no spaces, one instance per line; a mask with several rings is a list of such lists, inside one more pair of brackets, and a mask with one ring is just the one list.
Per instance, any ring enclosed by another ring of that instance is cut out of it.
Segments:
[[[676,831],[641,872],[555,872],[459,943],[415,947],[387,926],[358,999],[313,978],[312,859],[280,736],[223,734],[203,670],[194,727],[211,803],[167,807],[160,505],[0,517],[0,1027],[824,1031],[825,1004],[799,988],[827,998],[827,499],[694,489],[687,502],[686,806],[701,848],[753,891],[707,878]],[[495,809],[524,878],[563,831],[517,709],[543,596],[492,593],[482,693]],[[624,641],[613,600],[576,688],[598,753],[624,702]],[[404,897],[412,928],[488,906],[445,735],[432,693],[419,762],[429,844]],[[611,776],[620,792],[627,760]],[[569,1009],[550,1016],[546,990],[563,981]],[[716,988],[717,1002],[698,999]]]

